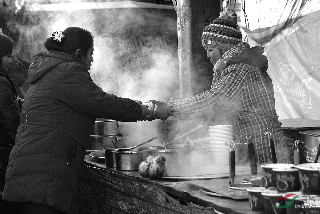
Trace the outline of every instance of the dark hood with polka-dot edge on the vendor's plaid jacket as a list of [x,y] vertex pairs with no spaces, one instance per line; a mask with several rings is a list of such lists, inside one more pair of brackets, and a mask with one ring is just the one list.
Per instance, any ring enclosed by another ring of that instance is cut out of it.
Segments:
[[244,63],[258,67],[262,72],[266,72],[269,67],[269,62],[267,57],[264,56],[263,53],[264,47],[254,46],[242,52],[240,55],[230,55],[229,57],[221,60],[221,62],[217,66],[217,69],[223,70],[229,65]]

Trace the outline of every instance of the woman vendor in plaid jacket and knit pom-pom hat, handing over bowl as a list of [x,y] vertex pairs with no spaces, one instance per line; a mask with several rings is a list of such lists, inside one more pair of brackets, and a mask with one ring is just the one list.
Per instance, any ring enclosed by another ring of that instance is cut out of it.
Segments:
[[[270,163],[268,135],[275,141],[278,163],[289,163],[281,123],[275,108],[271,78],[266,72],[268,59],[264,48],[242,42],[237,15],[224,10],[202,34],[202,44],[213,65],[211,89],[189,98],[172,98],[169,103],[150,100],[157,105],[148,120],[204,118],[206,125],[232,124],[240,142],[252,137],[259,163]],[[201,124],[201,123],[200,123]]]

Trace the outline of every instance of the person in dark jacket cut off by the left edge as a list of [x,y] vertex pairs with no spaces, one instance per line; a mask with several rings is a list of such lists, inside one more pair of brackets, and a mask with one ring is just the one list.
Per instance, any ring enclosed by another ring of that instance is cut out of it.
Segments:
[[[14,40],[0,33],[0,197],[4,190],[5,172],[10,152],[20,123],[20,109],[17,105],[16,87],[8,75],[12,65]],[[20,67],[19,69],[23,69]],[[19,206],[5,202],[0,198],[1,213],[22,213]]]

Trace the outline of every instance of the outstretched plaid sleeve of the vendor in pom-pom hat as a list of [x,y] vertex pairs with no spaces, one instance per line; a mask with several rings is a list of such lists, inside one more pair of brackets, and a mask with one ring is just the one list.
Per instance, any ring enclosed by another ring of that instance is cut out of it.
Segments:
[[172,115],[183,119],[211,117],[238,111],[241,109],[245,78],[246,67],[244,64],[237,64],[232,69],[226,68],[210,90],[195,97],[172,98],[169,103]]

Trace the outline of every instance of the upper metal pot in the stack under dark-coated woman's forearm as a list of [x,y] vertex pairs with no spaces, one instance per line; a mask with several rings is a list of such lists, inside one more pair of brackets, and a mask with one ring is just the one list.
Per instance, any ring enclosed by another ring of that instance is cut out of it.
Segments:
[[96,118],[96,122],[94,123],[91,135],[120,134],[118,125],[118,122],[115,120]]

